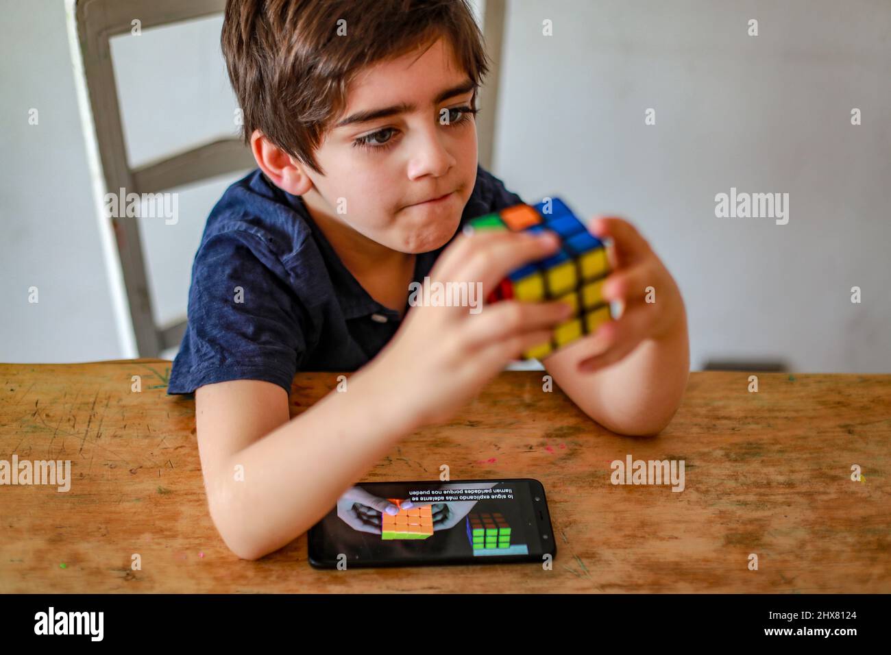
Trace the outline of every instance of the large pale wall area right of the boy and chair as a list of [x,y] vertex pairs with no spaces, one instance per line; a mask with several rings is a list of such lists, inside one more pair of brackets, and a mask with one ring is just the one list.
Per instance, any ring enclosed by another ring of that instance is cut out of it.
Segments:
[[[682,288],[694,370],[891,370],[891,4],[509,4],[496,170],[638,226]],[[731,186],[789,192],[789,224],[716,218]]]

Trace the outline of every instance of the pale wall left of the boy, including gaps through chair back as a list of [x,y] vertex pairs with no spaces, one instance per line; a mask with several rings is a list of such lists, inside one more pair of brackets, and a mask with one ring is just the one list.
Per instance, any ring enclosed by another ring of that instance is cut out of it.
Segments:
[[[115,326],[112,288],[87,170],[63,0],[0,0],[0,361],[133,356]],[[138,18],[138,16],[135,16]],[[237,134],[219,48],[222,16],[111,40],[132,166]],[[29,109],[39,111],[29,125]],[[177,189],[176,225],[143,219],[151,300],[160,324],[185,316],[192,258],[208,212],[243,173]],[[39,303],[29,304],[37,286]],[[128,315],[127,315],[128,318]],[[167,356],[173,356],[168,351]]]

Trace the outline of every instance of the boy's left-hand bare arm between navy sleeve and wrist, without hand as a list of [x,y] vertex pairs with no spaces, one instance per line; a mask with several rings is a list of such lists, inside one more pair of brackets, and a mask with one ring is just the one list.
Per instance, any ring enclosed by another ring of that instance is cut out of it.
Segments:
[[[414,429],[368,369],[290,420],[271,382],[200,387],[195,415],[210,515],[225,544],[255,560],[305,533]],[[238,467],[238,468],[237,468]]]

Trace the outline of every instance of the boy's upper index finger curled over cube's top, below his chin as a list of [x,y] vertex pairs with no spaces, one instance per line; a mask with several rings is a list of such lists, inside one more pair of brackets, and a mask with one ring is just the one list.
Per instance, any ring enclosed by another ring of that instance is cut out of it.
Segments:
[[431,271],[430,278],[441,282],[482,282],[485,297],[511,271],[556,253],[560,238],[548,231],[536,235],[486,230],[471,236],[461,234],[455,246],[448,258],[443,252],[443,266],[436,274]]

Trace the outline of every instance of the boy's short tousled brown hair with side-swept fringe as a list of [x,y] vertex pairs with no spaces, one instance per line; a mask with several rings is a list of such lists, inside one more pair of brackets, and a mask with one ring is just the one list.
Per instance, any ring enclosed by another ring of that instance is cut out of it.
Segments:
[[228,0],[220,43],[244,142],[258,129],[324,175],[313,153],[356,73],[437,37],[479,86],[488,64],[467,0]]

